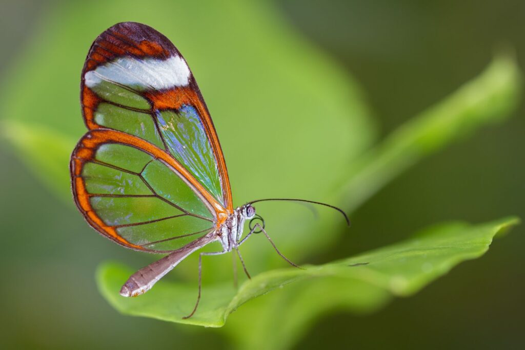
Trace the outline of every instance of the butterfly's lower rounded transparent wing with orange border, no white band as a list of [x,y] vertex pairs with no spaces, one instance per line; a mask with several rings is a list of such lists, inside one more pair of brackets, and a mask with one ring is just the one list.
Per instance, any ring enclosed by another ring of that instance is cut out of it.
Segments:
[[129,134],[92,130],[71,157],[86,220],[128,248],[167,252],[213,231],[216,212],[199,183],[164,150]]

